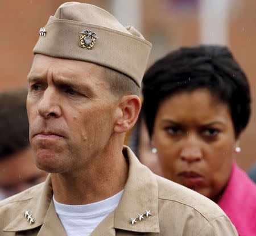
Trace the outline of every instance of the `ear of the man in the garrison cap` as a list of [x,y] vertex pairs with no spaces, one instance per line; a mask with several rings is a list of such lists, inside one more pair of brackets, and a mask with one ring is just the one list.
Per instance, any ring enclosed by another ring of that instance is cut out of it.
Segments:
[[125,133],[133,128],[136,123],[139,112],[141,111],[141,99],[137,95],[123,96],[119,103],[121,113],[115,123],[115,133]]

